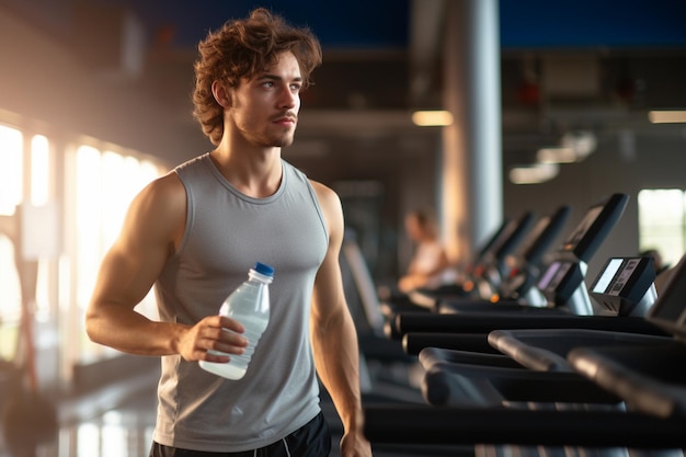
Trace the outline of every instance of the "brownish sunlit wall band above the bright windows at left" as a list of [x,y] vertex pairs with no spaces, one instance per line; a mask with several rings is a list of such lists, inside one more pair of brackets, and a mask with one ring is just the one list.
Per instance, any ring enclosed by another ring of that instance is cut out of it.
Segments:
[[134,81],[99,79],[54,36],[1,9],[0,108],[172,163],[207,148],[197,127],[153,105]]

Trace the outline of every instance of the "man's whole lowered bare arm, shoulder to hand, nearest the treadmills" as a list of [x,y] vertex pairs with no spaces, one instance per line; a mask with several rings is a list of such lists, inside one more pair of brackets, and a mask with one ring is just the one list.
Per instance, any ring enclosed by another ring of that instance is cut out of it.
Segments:
[[333,399],[345,427],[341,441],[344,457],[370,456],[363,435],[359,393],[359,353],[339,264],[343,241],[343,212],[330,188],[312,183],[329,227],[329,249],[319,269],[312,295],[310,330],[317,372]]

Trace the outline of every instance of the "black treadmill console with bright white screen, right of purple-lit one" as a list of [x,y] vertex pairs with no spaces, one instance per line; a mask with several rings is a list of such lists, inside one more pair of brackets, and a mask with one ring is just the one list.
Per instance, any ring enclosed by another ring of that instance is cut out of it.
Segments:
[[[652,258],[611,258],[590,292],[605,309],[617,316],[630,316],[634,310],[650,309],[655,300],[654,281]],[[640,315],[645,316],[645,310]]]

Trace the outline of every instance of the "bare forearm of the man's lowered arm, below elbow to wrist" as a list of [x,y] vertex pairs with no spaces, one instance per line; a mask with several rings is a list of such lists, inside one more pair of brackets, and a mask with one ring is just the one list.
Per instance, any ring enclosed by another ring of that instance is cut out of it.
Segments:
[[329,391],[346,432],[362,427],[359,354],[347,312],[312,329],[317,372]]

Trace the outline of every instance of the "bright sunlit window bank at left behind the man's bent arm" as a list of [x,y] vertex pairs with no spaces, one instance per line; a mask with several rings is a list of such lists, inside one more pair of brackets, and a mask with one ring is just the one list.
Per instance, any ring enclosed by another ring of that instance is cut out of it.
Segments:
[[[128,205],[167,170],[116,146],[99,149],[95,139],[79,145],[62,136],[58,147],[49,135],[18,127],[23,118],[10,122],[12,126],[0,124],[0,359],[16,354],[22,294],[15,250],[21,250],[22,256],[38,261],[37,350],[59,347],[59,366],[45,375],[68,381],[73,364],[116,353],[88,339],[83,313]],[[14,241],[19,222],[21,247]],[[153,294],[136,309],[157,319]]]

